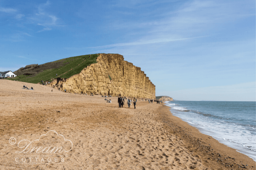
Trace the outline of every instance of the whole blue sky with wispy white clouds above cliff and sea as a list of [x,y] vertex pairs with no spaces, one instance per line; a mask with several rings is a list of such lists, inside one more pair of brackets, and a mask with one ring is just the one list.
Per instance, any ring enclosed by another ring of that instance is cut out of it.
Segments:
[[255,0],[0,0],[0,70],[118,53],[156,96],[256,100]]

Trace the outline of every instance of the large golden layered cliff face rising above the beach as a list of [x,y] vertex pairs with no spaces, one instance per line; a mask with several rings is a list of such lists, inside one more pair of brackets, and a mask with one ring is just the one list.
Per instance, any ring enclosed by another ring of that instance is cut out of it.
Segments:
[[100,54],[98,63],[68,79],[55,79],[51,86],[71,93],[154,99],[155,86],[140,67],[124,61],[119,54]]

